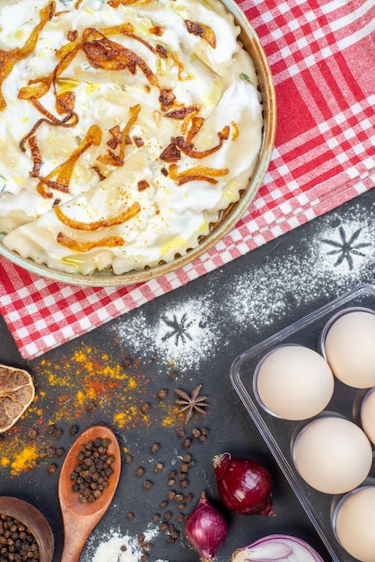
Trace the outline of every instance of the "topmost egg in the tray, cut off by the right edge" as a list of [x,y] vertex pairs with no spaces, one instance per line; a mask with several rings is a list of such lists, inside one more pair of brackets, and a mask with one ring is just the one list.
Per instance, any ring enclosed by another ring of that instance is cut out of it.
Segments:
[[375,314],[345,312],[327,330],[324,354],[337,379],[364,389],[375,386]]

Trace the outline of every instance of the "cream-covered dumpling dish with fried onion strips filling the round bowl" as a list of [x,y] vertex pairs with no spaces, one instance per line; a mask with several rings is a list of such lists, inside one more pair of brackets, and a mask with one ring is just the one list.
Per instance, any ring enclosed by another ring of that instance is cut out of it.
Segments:
[[0,4],[2,243],[83,275],[183,255],[260,150],[232,15],[218,0],[40,4]]

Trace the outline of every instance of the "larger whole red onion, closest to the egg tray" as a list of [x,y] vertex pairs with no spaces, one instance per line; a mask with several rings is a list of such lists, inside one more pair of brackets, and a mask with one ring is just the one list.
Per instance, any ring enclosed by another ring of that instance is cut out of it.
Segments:
[[275,515],[273,481],[263,464],[224,452],[214,457],[214,473],[219,496],[229,510],[235,514]]

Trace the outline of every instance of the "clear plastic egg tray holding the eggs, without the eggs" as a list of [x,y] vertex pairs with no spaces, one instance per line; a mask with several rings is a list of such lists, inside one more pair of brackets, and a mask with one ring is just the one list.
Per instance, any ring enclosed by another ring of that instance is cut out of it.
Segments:
[[[268,448],[275,457],[285,478],[291,485],[303,509],[310,518],[320,539],[325,544],[333,562],[356,562],[336,540],[332,528],[333,509],[340,497],[318,492],[301,479],[292,460],[292,440],[301,421],[290,421],[268,413],[259,404],[253,391],[253,375],[257,364],[267,353],[285,344],[299,344],[319,349],[319,338],[327,321],[337,312],[350,307],[363,307],[375,311],[375,285],[361,285],[343,294],[334,301],[318,308],[290,326],[266,338],[254,347],[236,357],[231,365],[231,383],[238,393],[249,416],[257,426]],[[325,412],[332,412],[359,424],[359,408],[368,390],[355,389],[335,379],[335,390]],[[302,422],[305,423],[305,422]],[[373,454],[374,447],[372,447]],[[369,479],[375,478],[375,463],[372,462]]]

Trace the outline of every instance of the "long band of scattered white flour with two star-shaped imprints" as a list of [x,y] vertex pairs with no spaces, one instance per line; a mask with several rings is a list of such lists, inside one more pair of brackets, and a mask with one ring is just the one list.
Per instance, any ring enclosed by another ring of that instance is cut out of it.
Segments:
[[144,350],[181,371],[197,371],[218,348],[228,347],[228,334],[272,329],[284,318],[294,321],[299,307],[325,296],[328,301],[366,277],[371,280],[374,223],[369,209],[359,206],[340,219],[320,217],[317,226],[300,231],[295,246],[281,238],[283,252],[265,251],[263,264],[239,268],[214,288],[207,289],[212,286],[208,283],[202,294],[183,293],[179,299],[176,292],[159,316],[150,309],[138,310],[115,322],[113,329],[120,343],[135,353]]

